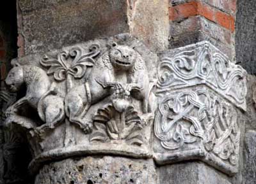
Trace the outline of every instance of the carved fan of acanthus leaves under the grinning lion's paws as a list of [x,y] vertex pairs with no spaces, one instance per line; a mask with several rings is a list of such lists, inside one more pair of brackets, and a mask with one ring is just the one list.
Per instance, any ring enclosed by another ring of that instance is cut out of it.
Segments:
[[[123,110],[120,111],[120,108]],[[138,112],[124,99],[116,99],[113,104],[106,104],[104,108],[99,109],[93,123],[96,131],[91,135],[90,141],[125,139],[130,144],[143,144],[141,130],[145,125]]]

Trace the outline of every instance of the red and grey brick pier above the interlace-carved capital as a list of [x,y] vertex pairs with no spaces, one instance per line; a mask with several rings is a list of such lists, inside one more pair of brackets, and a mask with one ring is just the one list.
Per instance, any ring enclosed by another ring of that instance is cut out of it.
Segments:
[[236,0],[170,0],[169,15],[170,48],[208,40],[235,62]]

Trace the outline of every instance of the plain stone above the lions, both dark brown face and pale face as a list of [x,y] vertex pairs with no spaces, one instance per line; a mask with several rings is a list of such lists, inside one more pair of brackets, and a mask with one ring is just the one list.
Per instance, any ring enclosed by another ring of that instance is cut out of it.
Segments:
[[168,45],[168,0],[21,0],[19,38],[24,54],[130,32],[152,50]]

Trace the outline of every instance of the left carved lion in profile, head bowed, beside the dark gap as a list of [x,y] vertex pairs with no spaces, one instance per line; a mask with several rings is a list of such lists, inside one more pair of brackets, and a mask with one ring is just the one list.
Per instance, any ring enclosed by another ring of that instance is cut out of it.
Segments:
[[26,96],[6,110],[8,117],[17,113],[17,110],[25,104],[37,110],[38,103],[42,105],[40,110],[44,109],[39,116],[49,127],[53,127],[65,117],[63,98],[54,95],[51,81],[40,67],[29,65],[13,67],[5,82],[12,92],[19,92],[21,87],[26,85]]

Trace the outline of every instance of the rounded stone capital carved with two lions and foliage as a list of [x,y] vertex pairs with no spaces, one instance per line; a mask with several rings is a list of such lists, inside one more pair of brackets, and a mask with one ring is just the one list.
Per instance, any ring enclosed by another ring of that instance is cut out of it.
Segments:
[[156,60],[128,34],[13,60],[6,85],[27,88],[6,110],[5,125],[28,132],[31,172],[74,155],[152,158]]

